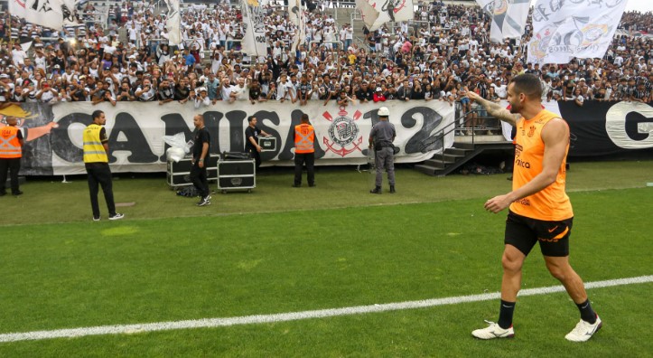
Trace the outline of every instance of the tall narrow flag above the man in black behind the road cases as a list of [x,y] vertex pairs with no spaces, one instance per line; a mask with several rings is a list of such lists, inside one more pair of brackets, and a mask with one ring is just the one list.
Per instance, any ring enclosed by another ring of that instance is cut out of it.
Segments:
[[256,0],[243,1],[241,9],[244,30],[242,51],[250,56],[266,56],[266,25],[263,9]]

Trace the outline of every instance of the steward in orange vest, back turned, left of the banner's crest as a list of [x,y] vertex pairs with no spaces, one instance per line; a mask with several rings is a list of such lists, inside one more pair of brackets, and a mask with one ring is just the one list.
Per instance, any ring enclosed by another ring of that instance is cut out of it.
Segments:
[[302,124],[294,126],[294,188],[302,186],[302,168],[306,164],[308,186],[315,186],[315,129],[308,122],[308,115],[302,115]]

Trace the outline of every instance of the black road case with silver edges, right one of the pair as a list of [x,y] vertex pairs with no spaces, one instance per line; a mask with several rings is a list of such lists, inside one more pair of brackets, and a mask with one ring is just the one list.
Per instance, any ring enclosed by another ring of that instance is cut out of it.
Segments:
[[247,190],[251,193],[257,186],[257,162],[254,159],[219,160],[218,190]]

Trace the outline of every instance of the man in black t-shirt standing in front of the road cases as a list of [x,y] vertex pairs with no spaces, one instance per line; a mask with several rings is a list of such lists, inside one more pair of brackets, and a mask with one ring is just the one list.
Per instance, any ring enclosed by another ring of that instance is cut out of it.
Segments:
[[201,194],[200,203],[197,206],[210,205],[209,181],[206,174],[206,163],[209,161],[210,134],[209,130],[204,127],[204,117],[195,115],[192,123],[197,130],[193,138],[195,144],[192,148],[191,160],[191,182]]

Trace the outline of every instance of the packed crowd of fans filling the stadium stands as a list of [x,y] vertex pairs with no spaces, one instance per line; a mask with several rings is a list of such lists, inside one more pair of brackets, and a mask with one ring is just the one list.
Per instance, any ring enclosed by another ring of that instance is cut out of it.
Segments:
[[[267,5],[268,52],[243,53],[238,5],[188,7],[182,12],[184,44],[169,46],[165,9],[153,3],[118,1],[107,24],[92,21],[88,3],[79,24],[61,32],[26,24],[10,14],[0,20],[0,101],[48,102],[192,101],[196,108],[218,101],[443,100],[464,112],[474,108],[466,93],[507,97],[509,80],[533,73],[546,100],[651,102],[653,14],[622,16],[620,31],[601,59],[556,65],[527,63],[525,41],[492,43],[490,17],[476,5],[419,5],[415,21],[363,29],[324,13],[325,3],[307,3],[305,39],[291,52],[296,25],[287,7]],[[473,4],[473,3],[472,3]],[[310,11],[309,11],[310,10]],[[362,23],[360,23],[362,24]],[[120,41],[119,33],[126,41]],[[32,41],[23,50],[22,42]],[[475,120],[471,118],[472,121]],[[473,123],[482,125],[482,123]]]

